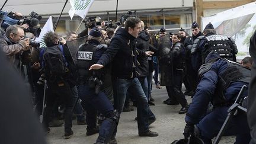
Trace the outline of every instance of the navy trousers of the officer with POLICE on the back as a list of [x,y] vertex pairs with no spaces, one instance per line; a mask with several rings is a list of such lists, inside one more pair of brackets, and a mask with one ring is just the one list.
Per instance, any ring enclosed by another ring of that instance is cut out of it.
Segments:
[[[87,130],[94,129],[96,127],[97,111],[105,117],[111,117],[111,114],[113,114],[113,105],[110,100],[108,100],[104,92],[95,94],[94,88],[89,88],[88,85],[79,85],[78,94],[81,100],[84,101],[85,110],[87,111]],[[116,127],[113,127],[114,124],[115,123],[108,121],[107,119],[103,121],[97,142],[100,139],[107,140],[112,136],[114,128]]]

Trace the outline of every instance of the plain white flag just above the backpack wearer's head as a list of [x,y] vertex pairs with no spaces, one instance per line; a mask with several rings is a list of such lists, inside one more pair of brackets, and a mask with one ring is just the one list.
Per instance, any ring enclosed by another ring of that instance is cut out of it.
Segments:
[[44,36],[50,31],[54,32],[52,16],[48,18],[46,24],[44,24],[44,27],[41,30],[39,37],[36,39],[36,41],[40,42],[40,47],[46,47],[46,44],[44,43]]

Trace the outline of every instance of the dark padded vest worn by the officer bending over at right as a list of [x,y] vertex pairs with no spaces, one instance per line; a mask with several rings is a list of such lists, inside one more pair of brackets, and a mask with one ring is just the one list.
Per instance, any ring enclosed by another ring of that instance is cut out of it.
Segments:
[[231,105],[233,101],[228,101],[225,98],[224,92],[232,82],[241,81],[249,84],[251,81],[251,71],[238,63],[228,62],[228,67],[219,75],[217,87],[213,97],[213,105]]

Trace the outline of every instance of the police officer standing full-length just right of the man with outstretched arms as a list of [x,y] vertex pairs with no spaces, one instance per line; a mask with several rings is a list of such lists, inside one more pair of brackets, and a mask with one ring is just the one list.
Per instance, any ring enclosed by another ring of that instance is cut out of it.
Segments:
[[180,42],[181,35],[174,34],[172,36],[172,47],[168,53],[167,65],[164,68],[165,71],[165,83],[167,88],[167,93],[170,101],[167,103],[169,105],[181,104],[182,108],[179,114],[184,114],[187,112],[187,100],[185,95],[181,91],[182,79],[183,79],[183,69],[185,62],[185,48],[183,43]]

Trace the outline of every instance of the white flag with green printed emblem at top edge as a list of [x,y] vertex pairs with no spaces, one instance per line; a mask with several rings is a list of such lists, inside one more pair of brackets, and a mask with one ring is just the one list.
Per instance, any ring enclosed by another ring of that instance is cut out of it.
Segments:
[[71,20],[75,14],[84,19],[92,5],[92,2],[94,2],[94,0],[70,0],[71,9],[69,10],[69,16],[71,17]]

